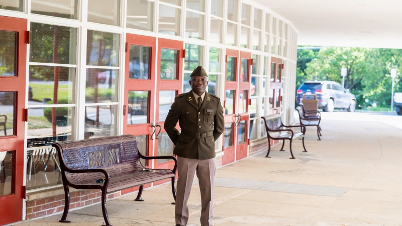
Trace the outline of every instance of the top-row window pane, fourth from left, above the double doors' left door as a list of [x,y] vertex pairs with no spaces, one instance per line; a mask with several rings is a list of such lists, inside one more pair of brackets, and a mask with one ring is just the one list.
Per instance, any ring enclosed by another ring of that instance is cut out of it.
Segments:
[[147,0],[127,0],[126,18],[128,28],[153,31],[154,2]]

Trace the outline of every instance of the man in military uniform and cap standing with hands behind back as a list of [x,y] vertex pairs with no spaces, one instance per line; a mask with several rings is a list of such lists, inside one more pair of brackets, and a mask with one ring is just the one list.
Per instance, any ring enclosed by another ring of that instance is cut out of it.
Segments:
[[[201,192],[203,226],[212,225],[212,199],[216,171],[215,142],[224,130],[220,98],[206,92],[207,73],[198,66],[190,75],[191,91],[175,97],[164,128],[175,145],[177,158],[176,226],[188,221],[187,200],[195,171]],[[179,122],[181,133],[175,128]]]

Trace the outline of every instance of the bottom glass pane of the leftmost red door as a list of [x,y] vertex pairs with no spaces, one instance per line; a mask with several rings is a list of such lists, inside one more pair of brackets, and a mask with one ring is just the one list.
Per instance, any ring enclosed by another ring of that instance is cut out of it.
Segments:
[[0,196],[14,193],[13,171],[15,151],[0,152]]

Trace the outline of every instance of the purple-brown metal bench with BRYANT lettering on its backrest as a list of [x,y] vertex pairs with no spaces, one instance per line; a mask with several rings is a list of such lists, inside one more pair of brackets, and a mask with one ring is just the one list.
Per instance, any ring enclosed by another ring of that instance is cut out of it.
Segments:
[[[76,189],[102,190],[102,212],[106,225],[111,225],[106,211],[107,193],[140,186],[135,200],[144,201],[141,199],[144,184],[171,178],[173,198],[176,200],[174,187],[176,158],[141,155],[137,140],[132,135],[61,142],[52,146],[57,149],[59,155],[65,192],[64,212],[60,222],[71,222],[67,219],[70,206],[68,186]],[[175,164],[173,170],[147,169],[141,164],[140,158],[172,159]],[[104,182],[97,182],[103,178]]]

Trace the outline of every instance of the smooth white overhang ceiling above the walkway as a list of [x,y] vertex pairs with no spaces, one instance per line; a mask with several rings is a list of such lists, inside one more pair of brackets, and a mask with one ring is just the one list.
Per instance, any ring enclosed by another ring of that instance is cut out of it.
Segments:
[[252,0],[290,21],[298,45],[402,49],[402,0]]

